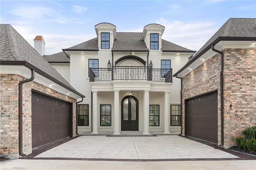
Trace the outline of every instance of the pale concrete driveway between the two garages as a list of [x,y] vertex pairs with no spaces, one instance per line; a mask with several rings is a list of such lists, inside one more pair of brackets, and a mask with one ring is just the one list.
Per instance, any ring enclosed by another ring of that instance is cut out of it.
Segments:
[[170,160],[239,158],[212,146],[177,135],[79,136],[34,158],[83,158],[83,160]]

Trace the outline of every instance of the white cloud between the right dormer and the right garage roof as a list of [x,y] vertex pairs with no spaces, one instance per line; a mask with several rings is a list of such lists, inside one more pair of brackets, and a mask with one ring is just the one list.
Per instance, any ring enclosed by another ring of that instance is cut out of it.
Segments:
[[183,22],[160,18],[156,23],[165,27],[162,38],[182,47],[198,51],[219,29],[215,22]]

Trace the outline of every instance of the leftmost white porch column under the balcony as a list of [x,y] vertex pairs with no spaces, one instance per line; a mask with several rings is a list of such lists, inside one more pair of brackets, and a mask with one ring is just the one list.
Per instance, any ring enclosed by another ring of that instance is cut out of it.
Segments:
[[98,134],[98,99],[97,91],[92,92],[92,134]]

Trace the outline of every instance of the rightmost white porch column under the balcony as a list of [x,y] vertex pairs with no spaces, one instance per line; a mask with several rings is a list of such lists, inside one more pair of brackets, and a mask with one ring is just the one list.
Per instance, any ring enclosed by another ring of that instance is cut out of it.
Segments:
[[164,92],[164,134],[170,133],[170,92]]

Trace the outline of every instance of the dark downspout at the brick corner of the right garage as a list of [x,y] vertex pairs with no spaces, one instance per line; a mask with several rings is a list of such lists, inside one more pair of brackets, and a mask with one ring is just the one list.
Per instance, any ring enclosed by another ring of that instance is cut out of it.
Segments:
[[212,45],[212,51],[220,53],[220,135],[221,135],[221,143],[220,147],[224,145],[224,98],[223,98],[223,67],[224,67],[224,55],[222,51],[219,51],[214,48]]

